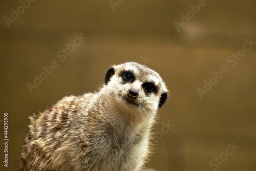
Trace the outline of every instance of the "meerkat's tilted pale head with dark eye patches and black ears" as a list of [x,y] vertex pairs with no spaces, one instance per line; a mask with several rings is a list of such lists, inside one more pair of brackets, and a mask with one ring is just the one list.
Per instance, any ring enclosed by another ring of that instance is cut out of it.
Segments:
[[157,111],[167,99],[167,89],[160,75],[135,62],[111,67],[105,76],[109,100],[120,108]]

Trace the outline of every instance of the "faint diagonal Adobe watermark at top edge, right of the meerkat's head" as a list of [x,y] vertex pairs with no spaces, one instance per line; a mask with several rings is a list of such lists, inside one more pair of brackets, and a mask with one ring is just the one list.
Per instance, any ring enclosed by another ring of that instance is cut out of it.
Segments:
[[[209,0],[211,1],[211,0]],[[201,8],[204,8],[207,5],[205,0],[199,0],[198,5],[190,5],[189,8],[191,9],[185,14],[181,13],[181,23],[174,22],[174,26],[177,29],[178,33],[180,32],[180,28],[184,28],[191,19],[195,18],[196,14],[199,14]]]

